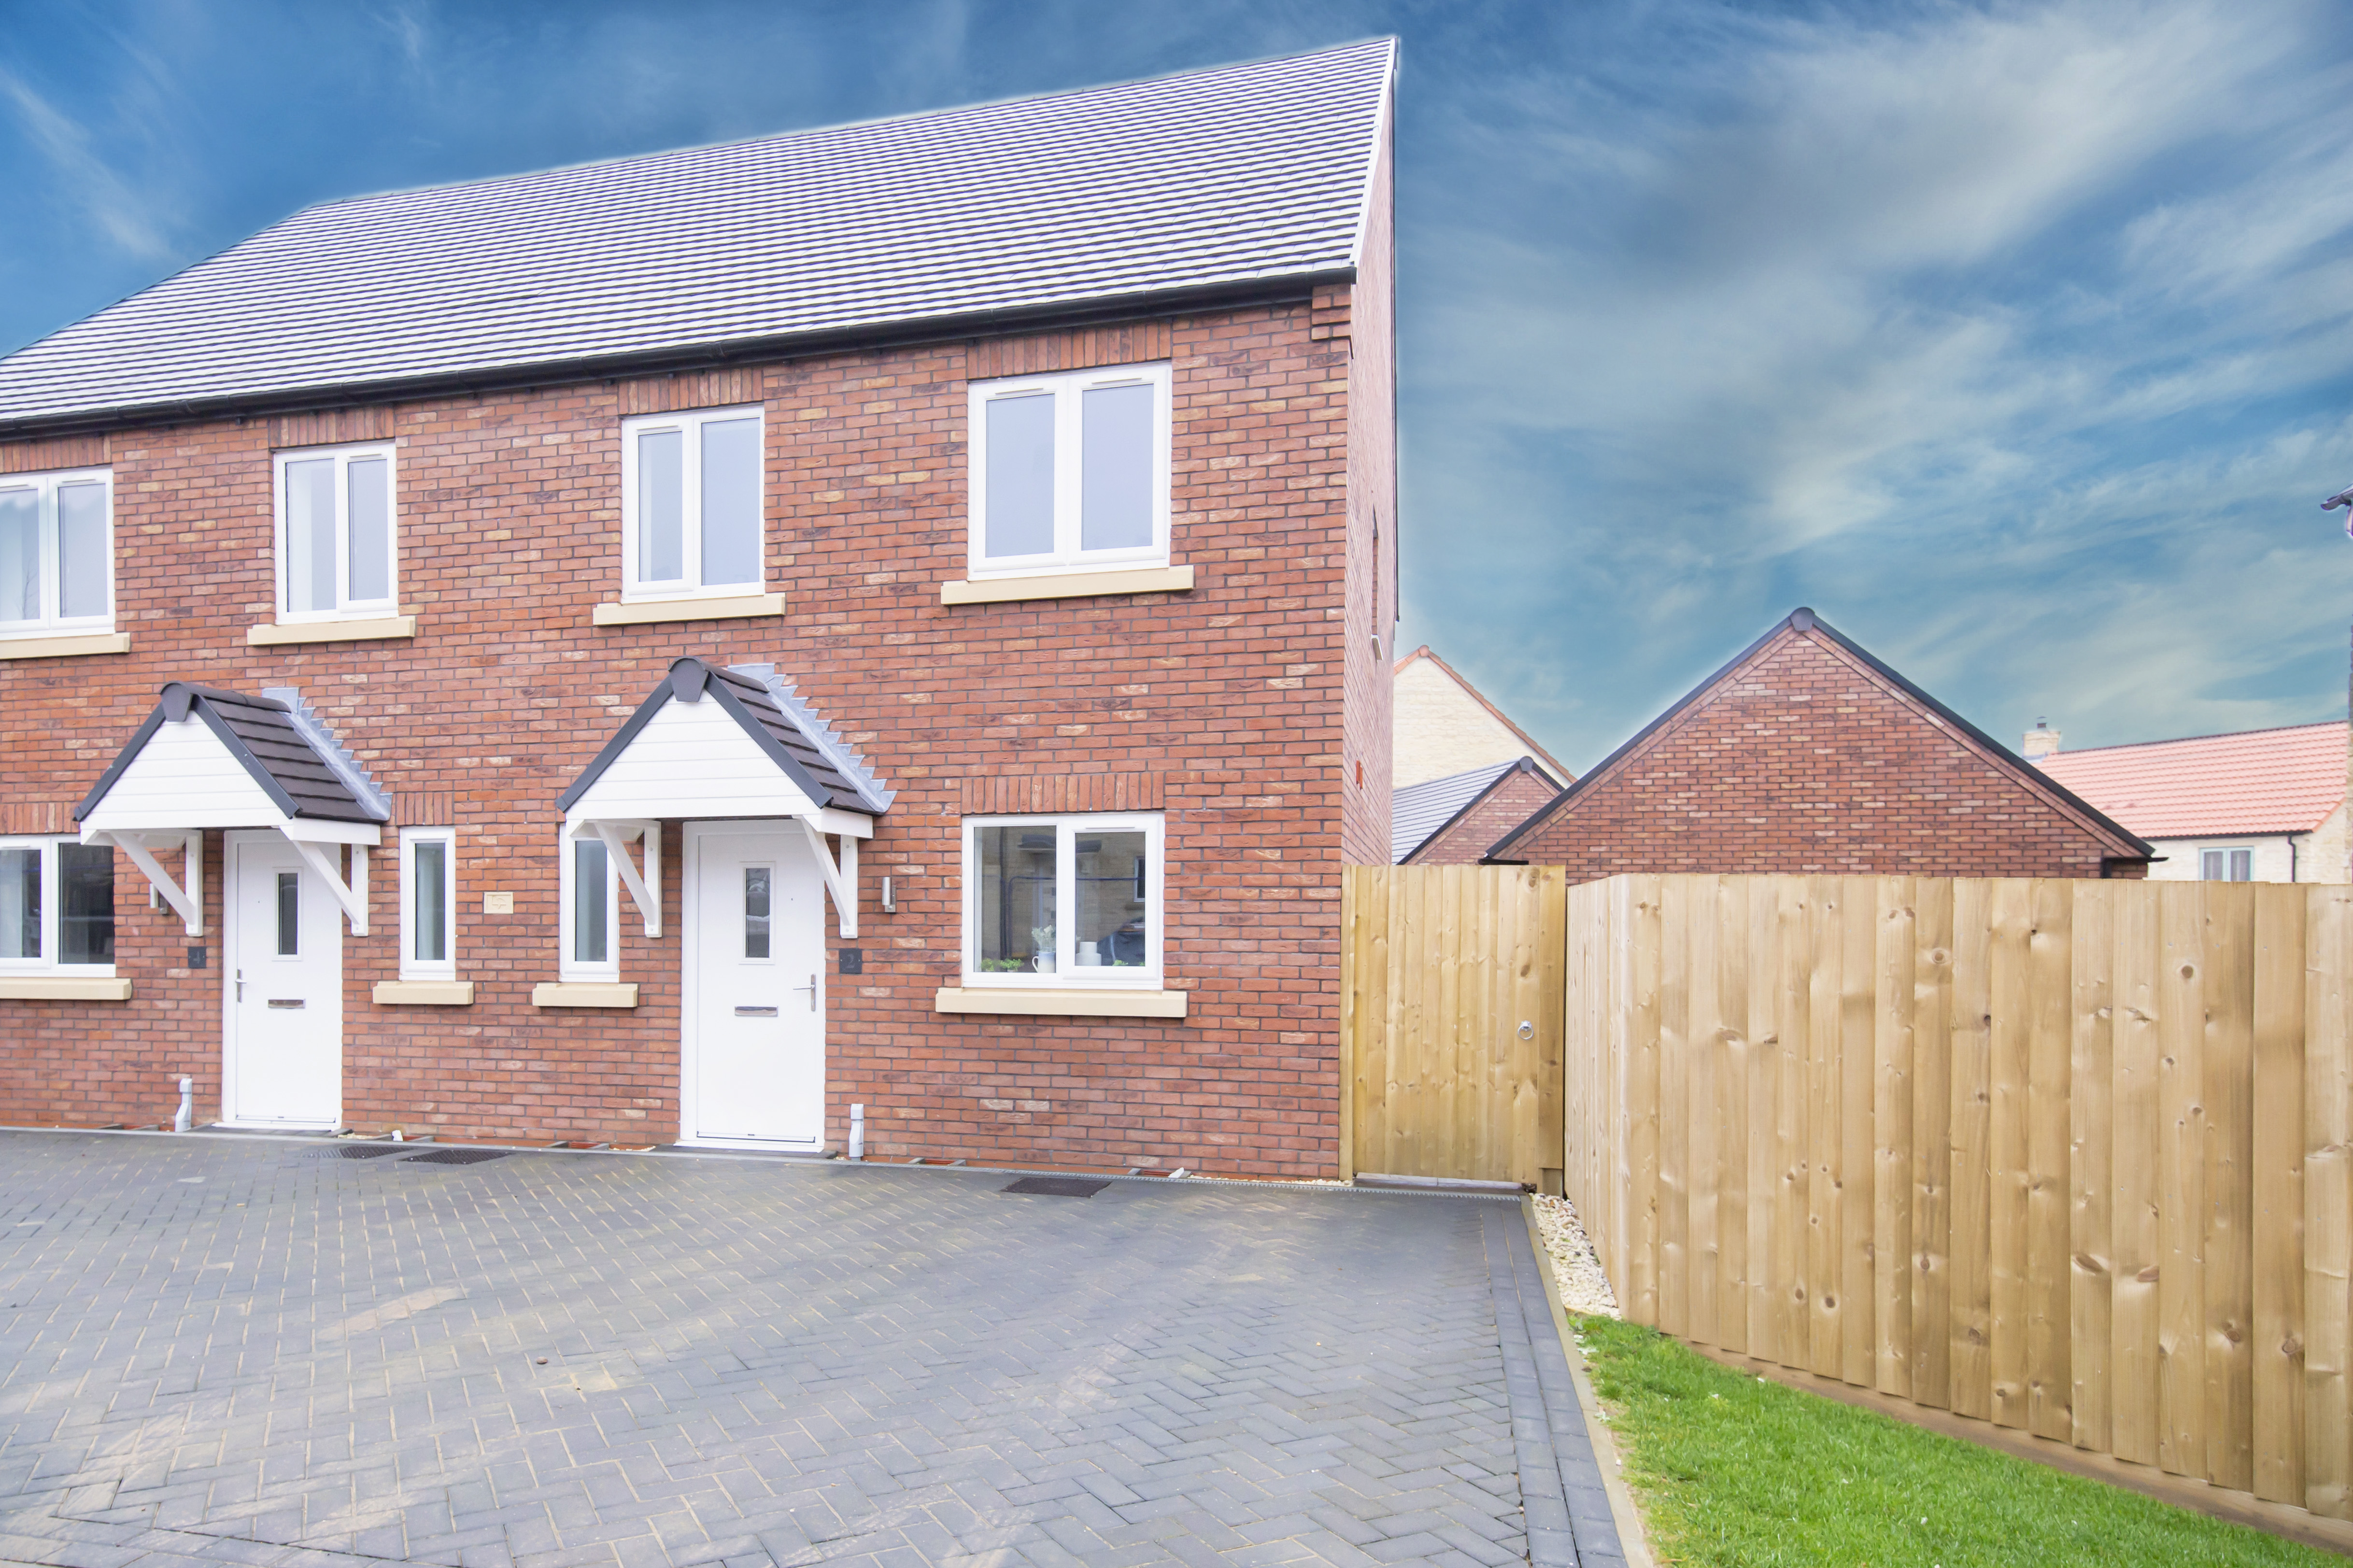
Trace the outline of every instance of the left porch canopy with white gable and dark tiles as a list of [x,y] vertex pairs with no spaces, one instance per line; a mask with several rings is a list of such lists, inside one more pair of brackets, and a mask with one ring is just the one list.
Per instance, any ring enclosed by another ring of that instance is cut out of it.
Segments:
[[[299,691],[247,696],[169,682],[73,818],[82,844],[113,844],[132,858],[188,936],[205,933],[207,827],[280,832],[334,893],[353,936],[367,936],[367,851],[384,842],[393,813]],[[344,844],[353,846],[348,882]],[[179,879],[155,860],[174,846]]]

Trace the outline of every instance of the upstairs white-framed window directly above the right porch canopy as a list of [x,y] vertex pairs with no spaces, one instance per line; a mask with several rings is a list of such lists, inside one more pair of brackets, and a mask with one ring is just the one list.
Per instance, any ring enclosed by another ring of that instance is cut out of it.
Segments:
[[621,423],[621,597],[760,592],[760,409]]

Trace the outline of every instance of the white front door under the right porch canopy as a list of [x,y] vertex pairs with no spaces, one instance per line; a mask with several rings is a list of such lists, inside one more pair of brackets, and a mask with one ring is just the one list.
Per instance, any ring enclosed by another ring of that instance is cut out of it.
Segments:
[[826,884],[798,823],[687,823],[682,1143],[826,1135]]

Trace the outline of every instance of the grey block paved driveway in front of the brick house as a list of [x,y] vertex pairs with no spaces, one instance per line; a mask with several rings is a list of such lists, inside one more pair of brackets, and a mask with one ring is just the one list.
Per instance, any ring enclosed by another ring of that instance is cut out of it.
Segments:
[[1506,1201],[339,1154],[0,1133],[0,1559],[1621,1561]]

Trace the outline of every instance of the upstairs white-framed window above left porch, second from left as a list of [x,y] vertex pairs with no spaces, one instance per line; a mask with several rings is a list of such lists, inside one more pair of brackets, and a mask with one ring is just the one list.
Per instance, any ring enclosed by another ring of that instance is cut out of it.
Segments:
[[391,444],[280,451],[278,621],[398,609]]

